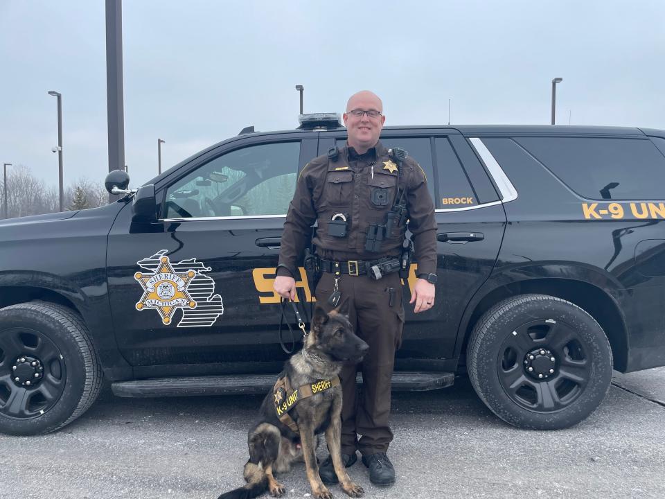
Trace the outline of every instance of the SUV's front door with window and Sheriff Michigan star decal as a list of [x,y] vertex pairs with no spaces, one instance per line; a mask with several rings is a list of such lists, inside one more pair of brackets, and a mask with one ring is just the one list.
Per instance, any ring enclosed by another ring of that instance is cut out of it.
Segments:
[[316,145],[306,132],[238,139],[158,184],[158,222],[133,225],[123,209],[109,234],[109,297],[139,374],[278,368],[272,278],[296,175]]

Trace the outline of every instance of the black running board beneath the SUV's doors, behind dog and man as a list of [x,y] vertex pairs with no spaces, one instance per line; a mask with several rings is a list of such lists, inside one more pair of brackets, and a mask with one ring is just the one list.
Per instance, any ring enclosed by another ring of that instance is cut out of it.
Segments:
[[[451,372],[397,371],[393,372],[392,389],[393,392],[424,392],[451,386],[454,379]],[[121,381],[112,383],[111,388],[121,397],[267,394],[275,381],[275,374],[186,376]],[[362,384],[360,373],[357,383]]]

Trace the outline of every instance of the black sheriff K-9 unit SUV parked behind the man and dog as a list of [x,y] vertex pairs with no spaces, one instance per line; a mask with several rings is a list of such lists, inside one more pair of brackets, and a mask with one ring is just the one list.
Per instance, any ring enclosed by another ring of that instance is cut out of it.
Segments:
[[[61,428],[103,378],[128,397],[265,393],[287,358],[272,285],[296,178],[345,139],[326,115],[249,127],[137,191],[110,173],[124,195],[105,207],[0,222],[0,432]],[[665,365],[665,131],[387,127],[381,141],[423,167],[438,222],[435,306],[406,307],[393,389],[468,371],[498,417],[555,429],[598,407],[613,368]]]

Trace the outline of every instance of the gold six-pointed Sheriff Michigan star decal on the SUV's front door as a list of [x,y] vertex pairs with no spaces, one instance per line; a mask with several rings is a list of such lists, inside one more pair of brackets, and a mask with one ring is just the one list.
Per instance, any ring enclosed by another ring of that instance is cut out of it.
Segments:
[[134,274],[143,288],[143,296],[136,303],[136,310],[154,308],[161,316],[163,324],[170,324],[171,317],[178,308],[196,308],[196,301],[187,292],[190,281],[195,277],[194,270],[175,272],[168,256],[162,256],[154,274]]

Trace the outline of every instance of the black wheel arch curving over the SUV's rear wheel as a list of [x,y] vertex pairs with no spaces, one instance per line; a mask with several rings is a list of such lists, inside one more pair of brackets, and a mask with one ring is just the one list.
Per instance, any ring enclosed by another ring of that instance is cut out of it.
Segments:
[[540,293],[570,301],[589,313],[600,324],[608,337],[614,359],[614,369],[625,371],[628,364],[628,330],[626,320],[617,302],[596,283],[562,277],[538,277],[507,283],[486,283],[468,306],[458,329],[455,346],[456,358],[465,365],[465,350],[478,319],[502,299]]

